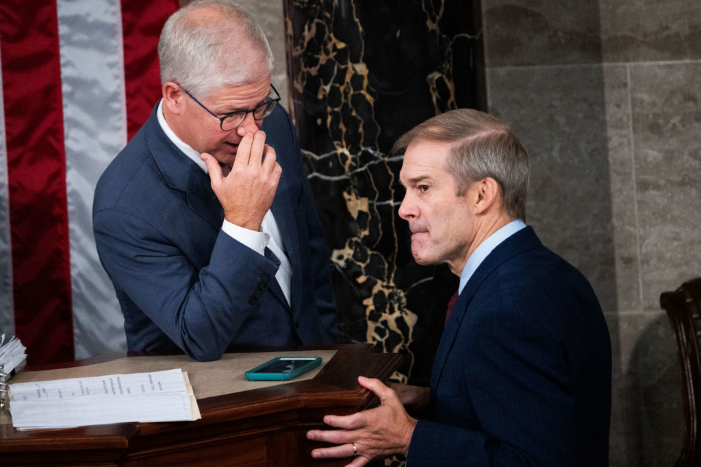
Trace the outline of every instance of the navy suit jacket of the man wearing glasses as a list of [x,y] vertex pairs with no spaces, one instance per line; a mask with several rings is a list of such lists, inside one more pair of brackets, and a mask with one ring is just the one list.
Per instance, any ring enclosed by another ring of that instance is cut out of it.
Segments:
[[292,265],[291,306],[275,281],[278,258],[222,232],[209,176],[165,136],[157,108],[102,174],[93,205],[129,350],[179,347],[212,360],[231,344],[334,342],[329,256],[287,113],[275,109],[262,130],[283,167],[271,210]]

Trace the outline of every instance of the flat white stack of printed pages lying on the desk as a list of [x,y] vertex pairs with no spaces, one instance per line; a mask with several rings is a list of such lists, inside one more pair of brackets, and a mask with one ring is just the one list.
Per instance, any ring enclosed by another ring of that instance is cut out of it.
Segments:
[[201,418],[180,369],[10,384],[10,393],[16,428]]

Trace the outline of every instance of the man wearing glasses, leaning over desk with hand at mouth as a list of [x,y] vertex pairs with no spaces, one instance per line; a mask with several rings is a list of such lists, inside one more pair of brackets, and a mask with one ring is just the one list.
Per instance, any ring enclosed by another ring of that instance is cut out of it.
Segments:
[[158,44],[163,99],[97,183],[93,228],[130,351],[336,340],[329,256],[253,18],[196,1]]

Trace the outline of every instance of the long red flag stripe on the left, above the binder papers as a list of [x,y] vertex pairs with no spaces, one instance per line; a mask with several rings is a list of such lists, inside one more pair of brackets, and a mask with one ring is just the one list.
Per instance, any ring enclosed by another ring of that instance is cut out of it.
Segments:
[[15,333],[28,363],[74,358],[54,1],[0,2]]

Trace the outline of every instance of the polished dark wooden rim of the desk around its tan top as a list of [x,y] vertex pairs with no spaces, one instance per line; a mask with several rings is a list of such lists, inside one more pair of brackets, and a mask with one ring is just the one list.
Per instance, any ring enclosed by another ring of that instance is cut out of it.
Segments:
[[[131,440],[159,437],[165,433],[190,430],[195,427],[215,426],[236,419],[261,417],[278,411],[301,409],[336,409],[351,413],[367,407],[372,393],[358,384],[357,375],[387,379],[400,363],[396,354],[374,353],[372,344],[304,347],[304,349],[338,349],[334,357],[313,379],[291,382],[262,389],[226,394],[198,400],[203,418],[197,421],[169,423],[130,423],[100,426],[81,426],[62,430],[18,431],[12,426],[0,427],[0,453],[64,452],[76,450],[104,451],[111,460],[116,453],[125,455]],[[262,350],[262,349],[259,349]],[[277,349],[275,349],[277,350]],[[118,358],[123,354],[111,355]],[[97,356],[72,362],[82,366],[108,361]],[[342,363],[341,363],[342,362]],[[27,370],[67,368],[69,364],[46,365]],[[140,443],[137,443],[140,444]],[[106,459],[107,460],[107,459]]]

